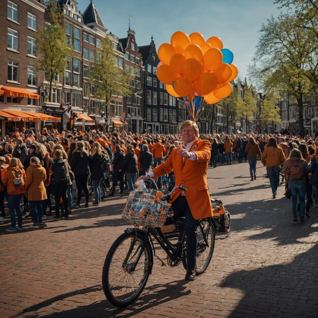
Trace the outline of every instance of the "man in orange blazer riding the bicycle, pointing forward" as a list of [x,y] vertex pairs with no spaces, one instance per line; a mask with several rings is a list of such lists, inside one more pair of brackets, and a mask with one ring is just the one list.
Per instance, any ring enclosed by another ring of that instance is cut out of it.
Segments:
[[161,165],[154,168],[140,179],[157,178],[174,171],[176,185],[183,185],[187,192],[175,190],[172,194],[172,210],[176,216],[185,216],[186,233],[186,280],[196,278],[196,251],[198,220],[212,216],[212,206],[207,184],[207,170],[211,155],[211,143],[199,140],[199,128],[196,122],[186,120],[182,123],[183,144],[172,150],[171,155]]

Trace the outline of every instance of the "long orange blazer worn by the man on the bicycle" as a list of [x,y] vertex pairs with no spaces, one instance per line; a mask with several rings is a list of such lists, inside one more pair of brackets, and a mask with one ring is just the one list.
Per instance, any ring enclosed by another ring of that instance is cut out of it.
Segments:
[[[187,159],[182,161],[182,157],[178,154],[179,150],[180,148],[174,148],[168,159],[152,170],[154,178],[173,170],[176,178],[175,185],[182,184],[187,189],[184,194],[193,217],[196,220],[210,217],[212,216],[212,206],[206,174],[211,155],[211,143],[208,140],[196,139],[189,150],[196,153],[196,161]],[[181,190],[176,189],[170,203],[180,194]]]

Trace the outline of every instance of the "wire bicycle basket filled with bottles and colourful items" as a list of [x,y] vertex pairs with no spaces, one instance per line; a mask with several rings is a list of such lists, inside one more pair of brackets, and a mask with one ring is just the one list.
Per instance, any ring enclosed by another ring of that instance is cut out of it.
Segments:
[[122,218],[133,225],[147,225],[153,228],[163,226],[170,216],[171,204],[158,201],[154,194],[153,190],[151,194],[132,191],[122,211]]

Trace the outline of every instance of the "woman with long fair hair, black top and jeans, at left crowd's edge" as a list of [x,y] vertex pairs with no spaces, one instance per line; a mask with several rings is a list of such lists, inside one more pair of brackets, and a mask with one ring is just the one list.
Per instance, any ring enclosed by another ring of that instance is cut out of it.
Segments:
[[102,170],[102,159],[104,155],[102,146],[99,142],[93,142],[93,152],[89,156],[88,164],[90,170],[90,180],[94,191],[95,201],[93,205],[99,205],[101,198],[101,181],[104,171]]

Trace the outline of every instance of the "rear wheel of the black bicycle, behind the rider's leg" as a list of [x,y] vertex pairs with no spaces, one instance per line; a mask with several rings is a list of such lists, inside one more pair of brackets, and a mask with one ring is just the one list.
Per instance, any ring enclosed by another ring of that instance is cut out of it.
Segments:
[[[201,228],[200,228],[201,225]],[[200,275],[205,272],[208,268],[214,250],[215,243],[215,231],[213,225],[210,223],[209,219],[202,219],[199,222],[199,226],[197,227],[198,231],[198,247],[197,247],[197,259],[196,259],[196,273]],[[206,244],[204,240],[203,233],[205,233],[205,237],[209,246]],[[182,260],[182,264],[184,269],[187,269],[186,266],[186,258]]]

